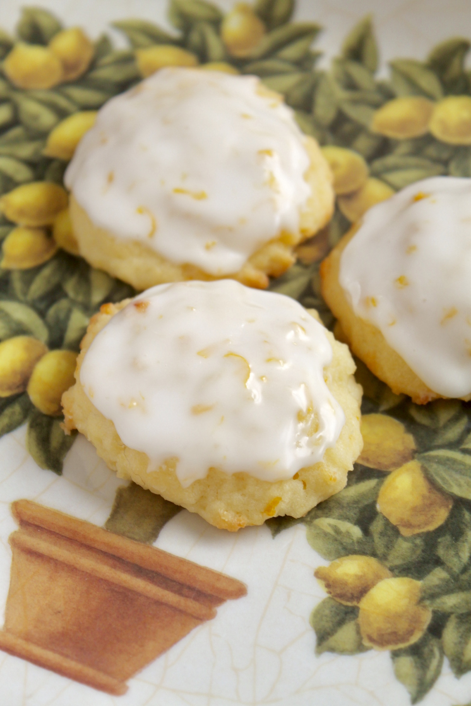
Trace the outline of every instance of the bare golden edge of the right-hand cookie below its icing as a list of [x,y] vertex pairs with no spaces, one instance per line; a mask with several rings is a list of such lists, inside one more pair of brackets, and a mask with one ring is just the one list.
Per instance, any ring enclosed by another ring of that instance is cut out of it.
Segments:
[[[369,367],[377,378],[389,385],[393,393],[409,395],[417,405],[426,405],[431,400],[445,399],[443,395],[431,390],[412,371],[403,357],[390,347],[386,338],[375,325],[356,316],[350,306],[339,282],[340,258],[358,227],[358,225],[354,225],[321,264],[323,298],[338,319],[342,333],[352,352]],[[462,399],[470,400],[471,395],[462,397]]]

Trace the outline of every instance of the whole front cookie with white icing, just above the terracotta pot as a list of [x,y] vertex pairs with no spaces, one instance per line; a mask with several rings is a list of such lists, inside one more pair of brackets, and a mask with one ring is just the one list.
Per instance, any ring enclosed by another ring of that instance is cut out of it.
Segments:
[[90,321],[65,425],[119,477],[235,531],[345,486],[362,449],[353,372],[294,299],[232,280],[159,285]]

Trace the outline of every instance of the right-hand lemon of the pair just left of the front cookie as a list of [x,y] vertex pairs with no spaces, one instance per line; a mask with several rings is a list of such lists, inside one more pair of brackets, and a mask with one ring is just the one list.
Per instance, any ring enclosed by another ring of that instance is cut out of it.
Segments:
[[61,414],[61,397],[74,383],[77,354],[54,350],[36,364],[28,383],[30,400],[43,414]]

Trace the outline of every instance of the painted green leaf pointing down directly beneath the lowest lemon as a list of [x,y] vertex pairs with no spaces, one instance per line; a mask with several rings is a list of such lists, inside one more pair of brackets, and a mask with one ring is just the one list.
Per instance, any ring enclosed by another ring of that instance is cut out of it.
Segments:
[[416,704],[429,693],[439,678],[443,665],[443,649],[440,641],[429,633],[403,650],[391,652],[394,674],[410,693],[412,704]]

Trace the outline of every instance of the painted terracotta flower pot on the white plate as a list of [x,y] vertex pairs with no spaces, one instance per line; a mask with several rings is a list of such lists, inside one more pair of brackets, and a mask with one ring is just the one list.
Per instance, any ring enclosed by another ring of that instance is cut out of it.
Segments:
[[19,530],[0,649],[114,695],[243,583],[30,501]]

